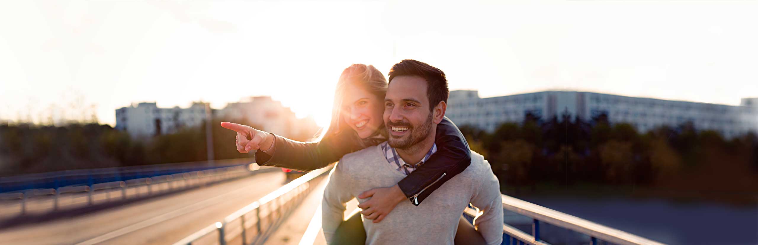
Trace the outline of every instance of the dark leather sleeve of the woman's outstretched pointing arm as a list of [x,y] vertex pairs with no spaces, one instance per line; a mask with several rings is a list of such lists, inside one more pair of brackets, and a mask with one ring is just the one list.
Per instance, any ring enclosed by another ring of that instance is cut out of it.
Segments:
[[[274,154],[268,155],[258,149],[255,152],[255,162],[262,166],[290,168],[300,171],[311,171],[324,168],[332,162],[337,162],[343,155],[359,149],[355,140],[349,137],[349,131],[333,136],[325,136],[321,141],[299,142],[274,135]],[[272,133],[273,134],[273,133]]]

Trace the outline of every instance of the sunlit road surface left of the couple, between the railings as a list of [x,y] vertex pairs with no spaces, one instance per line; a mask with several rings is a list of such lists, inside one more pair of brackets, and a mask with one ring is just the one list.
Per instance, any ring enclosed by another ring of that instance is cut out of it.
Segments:
[[0,244],[171,244],[284,184],[281,171],[0,231]]

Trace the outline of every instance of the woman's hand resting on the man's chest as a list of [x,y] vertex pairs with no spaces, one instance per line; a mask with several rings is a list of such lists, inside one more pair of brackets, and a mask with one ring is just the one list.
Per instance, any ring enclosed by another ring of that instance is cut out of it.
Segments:
[[393,187],[366,190],[358,195],[358,198],[362,199],[368,197],[371,199],[359,204],[358,207],[363,209],[361,213],[364,218],[373,219],[374,223],[379,223],[384,217],[387,217],[387,214],[392,212],[392,209],[395,209],[397,203],[406,199],[406,194],[402,193],[399,186],[394,185]]

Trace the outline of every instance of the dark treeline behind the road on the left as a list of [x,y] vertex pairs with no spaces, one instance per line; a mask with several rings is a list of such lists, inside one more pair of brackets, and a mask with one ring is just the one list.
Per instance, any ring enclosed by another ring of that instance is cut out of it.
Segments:
[[[256,127],[246,121],[241,124]],[[236,133],[213,122],[214,159],[252,157],[234,147]],[[256,127],[259,128],[259,127]],[[264,129],[265,130],[265,129]],[[315,132],[290,136],[307,140]],[[0,124],[0,176],[208,159],[205,124],[149,139],[133,139],[103,124]]]

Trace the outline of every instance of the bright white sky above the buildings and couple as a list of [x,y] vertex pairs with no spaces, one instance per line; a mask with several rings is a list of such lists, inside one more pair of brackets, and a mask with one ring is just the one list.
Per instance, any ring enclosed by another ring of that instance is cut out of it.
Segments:
[[[271,95],[329,121],[352,63],[404,58],[451,90],[583,90],[738,105],[758,97],[758,2],[0,2],[0,119]],[[58,109],[51,108],[51,105]]]

